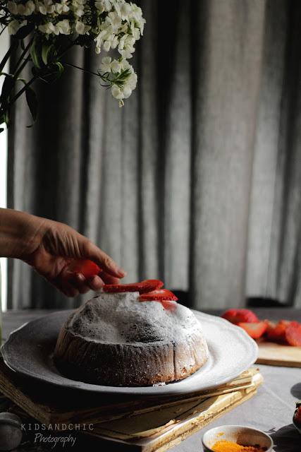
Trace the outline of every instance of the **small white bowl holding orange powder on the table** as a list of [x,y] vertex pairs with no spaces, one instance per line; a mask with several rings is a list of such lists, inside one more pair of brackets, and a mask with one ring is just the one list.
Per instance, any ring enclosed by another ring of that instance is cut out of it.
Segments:
[[211,447],[217,441],[233,441],[242,446],[260,446],[265,447],[266,452],[271,452],[274,447],[271,436],[261,430],[244,427],[243,425],[222,425],[214,429],[207,430],[202,437],[202,444],[205,452],[212,452]]

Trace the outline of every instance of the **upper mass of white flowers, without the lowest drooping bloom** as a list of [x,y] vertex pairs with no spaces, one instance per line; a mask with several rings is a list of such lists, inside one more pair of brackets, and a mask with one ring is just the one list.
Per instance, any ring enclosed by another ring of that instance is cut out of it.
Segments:
[[[125,0],[10,0],[7,8],[12,20],[17,20],[20,25],[23,25],[22,16],[42,15],[44,18],[37,20],[37,23],[42,21],[42,25],[38,25],[42,33],[70,35],[77,32],[79,35],[89,35],[92,31],[94,35],[96,32],[97,53],[102,47],[108,52],[118,46],[118,51],[129,57],[145,25],[141,8]],[[90,23],[91,13],[94,18],[101,18],[92,20],[94,23],[100,22],[99,26],[93,27]],[[58,23],[59,28],[56,28]],[[16,25],[11,27],[11,34],[14,34],[14,30]]]

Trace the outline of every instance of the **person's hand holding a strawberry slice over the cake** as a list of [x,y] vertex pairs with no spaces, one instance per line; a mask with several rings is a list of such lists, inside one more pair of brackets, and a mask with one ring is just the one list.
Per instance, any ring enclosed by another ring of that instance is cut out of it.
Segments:
[[[90,289],[99,290],[104,284],[118,284],[119,278],[125,276],[125,271],[113,259],[72,227],[30,217],[37,224],[30,228],[32,239],[20,258],[68,297],[84,294]],[[101,269],[99,274],[90,276],[87,275],[89,271],[80,271],[83,259],[96,263]]]

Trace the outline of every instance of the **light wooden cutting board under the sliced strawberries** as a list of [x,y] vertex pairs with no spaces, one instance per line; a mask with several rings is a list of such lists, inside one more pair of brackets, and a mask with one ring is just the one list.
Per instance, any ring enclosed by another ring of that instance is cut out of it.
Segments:
[[270,342],[258,344],[257,364],[270,366],[301,367],[301,347],[290,347]]

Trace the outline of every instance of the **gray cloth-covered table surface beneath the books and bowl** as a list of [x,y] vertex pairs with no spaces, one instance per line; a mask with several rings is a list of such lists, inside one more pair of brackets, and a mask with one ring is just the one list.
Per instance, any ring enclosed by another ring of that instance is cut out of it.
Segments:
[[[262,319],[291,319],[301,321],[301,309],[253,309]],[[23,323],[37,319],[51,311],[8,311],[3,314],[3,335],[18,328]],[[219,311],[207,311],[219,314]],[[185,439],[173,452],[202,451],[201,439],[204,432],[223,424],[248,425],[269,432],[274,439],[276,452],[300,452],[301,436],[293,427],[292,418],[295,401],[301,399],[301,369],[274,366],[259,366],[264,376],[264,384],[256,396],[235,408],[233,411],[212,422],[208,427]],[[84,440],[88,441],[88,440]],[[80,446],[82,447],[82,446]],[[89,447],[90,448],[90,447]],[[73,448],[70,450],[75,451]],[[19,450],[19,449],[18,449]],[[45,448],[20,448],[20,451],[44,451]],[[50,448],[49,448],[50,450]],[[52,450],[60,450],[59,446]],[[62,449],[63,450],[63,449]],[[64,448],[66,450],[66,447]],[[80,450],[82,450],[80,448]],[[97,450],[95,444],[92,450]]]

